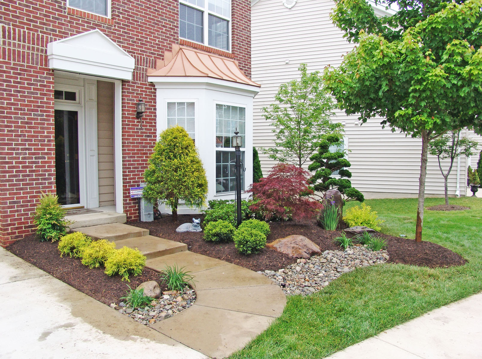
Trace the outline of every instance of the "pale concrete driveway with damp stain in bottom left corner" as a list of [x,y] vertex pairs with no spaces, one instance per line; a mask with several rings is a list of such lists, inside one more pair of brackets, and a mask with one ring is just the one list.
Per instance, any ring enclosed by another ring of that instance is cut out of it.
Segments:
[[0,247],[0,358],[207,357]]

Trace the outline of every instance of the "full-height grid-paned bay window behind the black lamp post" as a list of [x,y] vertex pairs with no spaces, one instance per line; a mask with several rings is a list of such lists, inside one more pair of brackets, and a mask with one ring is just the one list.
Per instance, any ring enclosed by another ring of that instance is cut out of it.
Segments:
[[[216,193],[236,190],[236,154],[231,147],[231,137],[238,129],[242,145],[246,145],[245,108],[216,104]],[[223,150],[222,150],[223,149]],[[241,151],[244,164],[244,151]],[[244,165],[242,166],[244,167]],[[241,170],[241,190],[244,190],[244,171]]]

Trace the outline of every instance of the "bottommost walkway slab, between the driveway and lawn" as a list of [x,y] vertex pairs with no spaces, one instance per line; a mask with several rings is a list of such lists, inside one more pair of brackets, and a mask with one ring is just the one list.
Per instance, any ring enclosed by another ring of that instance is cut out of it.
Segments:
[[194,304],[151,328],[211,358],[225,358],[243,348],[274,320],[257,314]]

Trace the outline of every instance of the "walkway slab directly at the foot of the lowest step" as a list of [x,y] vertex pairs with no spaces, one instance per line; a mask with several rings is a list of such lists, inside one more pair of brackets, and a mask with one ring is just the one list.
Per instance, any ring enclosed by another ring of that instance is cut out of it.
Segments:
[[146,266],[156,270],[163,270],[166,266],[186,267],[193,273],[201,270],[211,269],[219,266],[226,266],[228,262],[203,256],[194,252],[180,252],[169,256],[161,256],[154,259],[148,259]]

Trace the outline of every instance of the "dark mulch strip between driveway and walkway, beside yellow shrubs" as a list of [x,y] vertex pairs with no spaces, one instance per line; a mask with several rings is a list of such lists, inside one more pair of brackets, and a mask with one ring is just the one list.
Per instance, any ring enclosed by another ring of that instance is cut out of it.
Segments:
[[[103,268],[89,269],[80,263],[79,258],[61,257],[57,243],[40,242],[35,235],[27,236],[10,244],[7,249],[14,255],[32,263],[62,282],[74,287],[99,302],[110,305],[119,303],[119,298],[126,295],[126,284],[136,288],[140,283],[159,281],[159,272],[144,268],[142,275],[129,276],[131,282],[122,282],[119,275],[109,277]],[[164,285],[161,291],[166,291]]]

